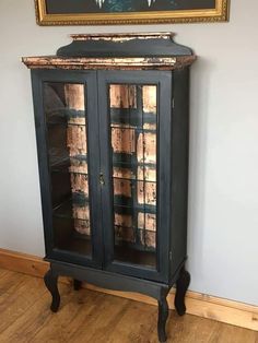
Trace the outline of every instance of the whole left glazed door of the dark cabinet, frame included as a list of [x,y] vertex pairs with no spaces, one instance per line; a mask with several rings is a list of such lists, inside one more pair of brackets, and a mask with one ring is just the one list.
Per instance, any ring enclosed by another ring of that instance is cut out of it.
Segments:
[[102,268],[96,72],[32,71],[46,259]]

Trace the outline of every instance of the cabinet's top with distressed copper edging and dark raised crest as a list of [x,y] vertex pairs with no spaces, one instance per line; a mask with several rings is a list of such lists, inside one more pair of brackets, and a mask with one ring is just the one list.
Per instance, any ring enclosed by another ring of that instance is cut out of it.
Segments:
[[31,69],[160,69],[191,64],[196,56],[176,44],[172,33],[71,35],[55,56],[24,57]]

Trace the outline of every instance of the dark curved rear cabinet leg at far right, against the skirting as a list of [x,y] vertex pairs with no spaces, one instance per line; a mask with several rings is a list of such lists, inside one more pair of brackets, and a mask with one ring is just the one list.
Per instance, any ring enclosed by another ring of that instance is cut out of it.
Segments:
[[184,265],[176,282],[175,308],[179,316],[183,316],[186,312],[185,295],[189,284],[190,274],[185,270]]

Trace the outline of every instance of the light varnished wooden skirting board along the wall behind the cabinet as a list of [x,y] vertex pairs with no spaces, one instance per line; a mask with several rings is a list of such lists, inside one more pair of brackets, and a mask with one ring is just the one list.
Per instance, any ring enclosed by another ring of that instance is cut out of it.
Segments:
[[[0,268],[43,277],[48,270],[48,262],[32,255],[0,249]],[[66,279],[61,279],[61,281],[70,282]],[[138,293],[114,292],[98,288],[90,284],[85,284],[84,286],[89,289],[156,305],[154,299]],[[168,295],[168,305],[171,309],[174,309],[173,291]],[[189,315],[209,318],[258,331],[258,306],[227,300],[189,291],[186,296],[186,307],[187,314]]]

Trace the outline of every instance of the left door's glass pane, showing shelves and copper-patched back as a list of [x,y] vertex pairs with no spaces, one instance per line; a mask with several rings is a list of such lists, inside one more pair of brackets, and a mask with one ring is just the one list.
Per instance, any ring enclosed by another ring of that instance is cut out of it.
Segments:
[[84,84],[44,83],[55,248],[92,253]]

